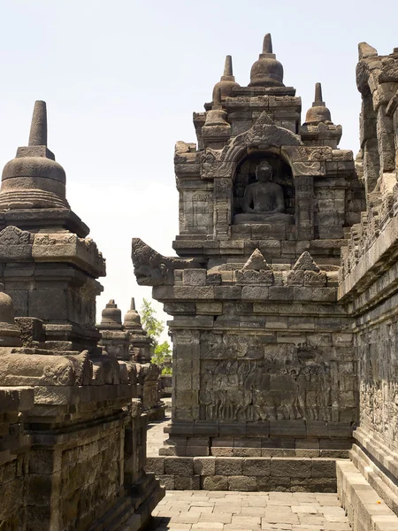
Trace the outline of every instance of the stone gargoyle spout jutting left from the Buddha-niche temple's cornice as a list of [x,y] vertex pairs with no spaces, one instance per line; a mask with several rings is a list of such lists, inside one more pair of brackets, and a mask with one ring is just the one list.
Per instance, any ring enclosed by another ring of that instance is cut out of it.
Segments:
[[174,283],[174,270],[200,268],[193,258],[164,257],[141,238],[133,238],[132,255],[134,274],[140,286],[162,286]]

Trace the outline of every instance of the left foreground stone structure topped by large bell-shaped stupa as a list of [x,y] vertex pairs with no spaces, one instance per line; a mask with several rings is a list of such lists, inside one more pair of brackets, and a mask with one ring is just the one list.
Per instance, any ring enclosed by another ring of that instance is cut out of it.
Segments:
[[144,472],[137,368],[100,344],[105,262],[66,200],[44,102],[4,167],[0,229],[0,529],[142,529],[164,490]]

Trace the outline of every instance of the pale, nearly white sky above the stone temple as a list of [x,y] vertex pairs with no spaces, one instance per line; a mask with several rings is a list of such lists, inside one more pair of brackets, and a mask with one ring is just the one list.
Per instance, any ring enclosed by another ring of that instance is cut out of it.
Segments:
[[[48,105],[49,149],[64,166],[67,198],[107,262],[104,304],[126,312],[137,286],[131,238],[173,255],[178,193],[173,149],[195,142],[227,54],[242,86],[265,33],[302,96],[302,122],[322,82],[340,147],[358,150],[357,44],[398,46],[396,0],[0,0],[0,165],[27,145],[34,100]],[[379,5],[379,8],[378,8]],[[156,304],[158,317],[167,319]]]

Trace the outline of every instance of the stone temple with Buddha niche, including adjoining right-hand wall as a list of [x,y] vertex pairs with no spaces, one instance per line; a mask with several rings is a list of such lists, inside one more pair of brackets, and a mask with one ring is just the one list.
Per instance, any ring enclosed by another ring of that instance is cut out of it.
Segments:
[[226,57],[197,143],[177,142],[179,258],[133,239],[138,283],[172,316],[150,468],[168,489],[337,486],[354,529],[398,529],[398,49],[361,43],[356,82],[355,160],[320,83],[302,119],[271,35],[247,87]]

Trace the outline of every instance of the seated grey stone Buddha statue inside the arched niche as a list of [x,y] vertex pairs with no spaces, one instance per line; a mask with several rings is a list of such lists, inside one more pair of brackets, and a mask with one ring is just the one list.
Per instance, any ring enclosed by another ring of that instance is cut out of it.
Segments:
[[256,167],[256,182],[245,189],[242,214],[236,214],[234,223],[283,223],[291,225],[293,216],[286,213],[282,187],[272,182],[272,165],[265,160]]

